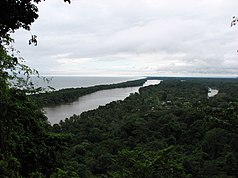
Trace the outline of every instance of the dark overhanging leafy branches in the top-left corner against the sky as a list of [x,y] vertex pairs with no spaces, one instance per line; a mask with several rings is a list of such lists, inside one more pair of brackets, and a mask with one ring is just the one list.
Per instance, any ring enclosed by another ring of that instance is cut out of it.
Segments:
[[[15,57],[16,50],[11,46],[14,41],[10,34],[19,28],[30,30],[31,24],[38,18],[37,4],[42,0],[1,0],[0,1],[0,77],[9,79],[17,73],[36,72],[26,65],[23,59]],[[70,0],[64,0],[69,2]],[[29,44],[37,45],[37,36],[32,35]],[[10,72],[9,72],[10,71]],[[10,76],[9,76],[10,75]],[[2,84],[2,83],[1,83]]]

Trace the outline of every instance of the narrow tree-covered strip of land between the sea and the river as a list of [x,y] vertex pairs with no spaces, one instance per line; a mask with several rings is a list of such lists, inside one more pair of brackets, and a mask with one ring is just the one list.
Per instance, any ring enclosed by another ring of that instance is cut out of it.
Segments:
[[92,87],[81,87],[81,88],[67,88],[61,89],[59,91],[35,94],[32,95],[31,97],[33,100],[37,101],[37,103],[40,106],[59,105],[73,102],[81,96],[91,94],[93,92],[100,90],[142,86],[146,82],[146,80],[147,79],[139,79],[109,85],[96,85]]

